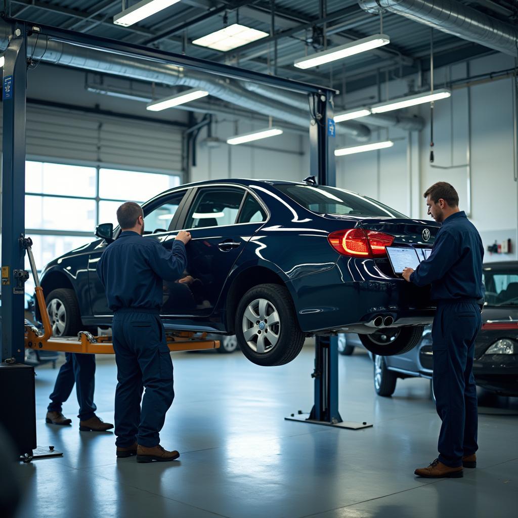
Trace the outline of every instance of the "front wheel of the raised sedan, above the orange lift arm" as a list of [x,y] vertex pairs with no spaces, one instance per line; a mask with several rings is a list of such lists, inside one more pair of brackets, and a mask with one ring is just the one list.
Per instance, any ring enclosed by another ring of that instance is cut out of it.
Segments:
[[45,297],[53,336],[77,336],[81,330],[81,313],[74,290],[58,288]]

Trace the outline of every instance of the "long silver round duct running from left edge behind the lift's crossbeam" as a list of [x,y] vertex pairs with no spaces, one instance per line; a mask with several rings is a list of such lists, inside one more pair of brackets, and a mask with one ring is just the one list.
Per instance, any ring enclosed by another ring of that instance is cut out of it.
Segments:
[[[6,48],[9,42],[11,28],[5,22],[0,22],[0,47]],[[95,49],[66,44],[61,41],[39,38],[39,44],[34,49],[36,38],[27,41],[27,53],[34,61],[41,60],[55,65],[81,68],[97,73],[112,74],[141,81],[185,86],[206,90],[210,95],[228,103],[269,115],[275,119],[291,122],[292,124],[309,127],[309,108],[300,110],[284,103],[266,99],[244,89],[237,81],[231,81],[218,76],[197,71],[184,72],[183,68],[175,65],[154,63],[143,59],[128,58],[119,54],[102,52]],[[209,78],[210,77],[210,78]],[[357,140],[365,141],[370,137],[370,130],[364,124],[351,124],[344,132]]]

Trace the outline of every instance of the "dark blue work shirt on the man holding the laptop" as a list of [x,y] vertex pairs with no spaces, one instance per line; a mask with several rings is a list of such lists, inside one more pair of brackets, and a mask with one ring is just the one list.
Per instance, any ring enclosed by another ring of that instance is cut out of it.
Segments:
[[480,299],[484,296],[482,260],[484,247],[464,211],[446,218],[426,261],[415,269],[410,281],[431,284],[432,300]]

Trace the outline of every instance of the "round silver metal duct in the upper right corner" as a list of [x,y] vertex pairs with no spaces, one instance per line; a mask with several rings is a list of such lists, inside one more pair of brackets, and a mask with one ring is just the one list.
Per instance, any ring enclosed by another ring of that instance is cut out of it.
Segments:
[[367,12],[386,10],[511,56],[518,55],[518,30],[455,0],[359,0]]

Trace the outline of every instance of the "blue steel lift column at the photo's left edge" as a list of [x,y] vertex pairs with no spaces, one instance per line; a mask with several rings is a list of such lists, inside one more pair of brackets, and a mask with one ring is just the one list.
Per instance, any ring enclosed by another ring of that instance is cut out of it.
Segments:
[[2,362],[24,361],[26,32],[12,25],[4,53],[2,153]]

